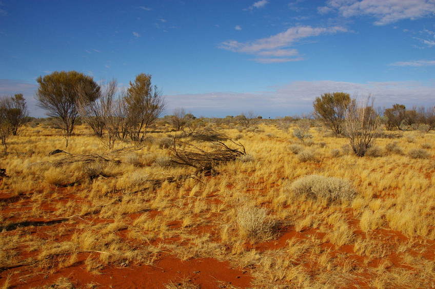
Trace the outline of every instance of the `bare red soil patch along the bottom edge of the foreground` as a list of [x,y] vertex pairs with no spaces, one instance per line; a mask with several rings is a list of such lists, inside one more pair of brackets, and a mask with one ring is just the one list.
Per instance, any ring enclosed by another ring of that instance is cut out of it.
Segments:
[[[83,254],[88,255],[88,254]],[[82,261],[84,258],[80,258]],[[82,262],[81,262],[82,263]],[[231,269],[228,262],[220,262],[213,258],[201,258],[182,261],[172,256],[164,256],[153,266],[129,266],[125,268],[109,267],[101,270],[101,274],[93,275],[77,264],[62,269],[54,274],[39,274],[20,281],[20,276],[29,272],[15,270],[12,285],[19,288],[33,288],[53,284],[58,278],[67,277],[76,286],[84,287],[95,284],[96,287],[112,288],[165,288],[165,284],[177,284],[180,280],[190,280],[202,289],[218,288],[219,285],[232,285],[247,288],[252,277],[246,271]],[[0,276],[5,278],[7,273]],[[2,279],[3,279],[2,278]]]

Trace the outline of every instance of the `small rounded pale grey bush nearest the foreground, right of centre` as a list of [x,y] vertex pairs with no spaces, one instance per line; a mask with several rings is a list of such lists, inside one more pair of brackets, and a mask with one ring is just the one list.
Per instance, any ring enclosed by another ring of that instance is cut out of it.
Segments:
[[278,223],[267,215],[265,208],[245,205],[237,212],[236,223],[241,237],[251,241],[271,239]]

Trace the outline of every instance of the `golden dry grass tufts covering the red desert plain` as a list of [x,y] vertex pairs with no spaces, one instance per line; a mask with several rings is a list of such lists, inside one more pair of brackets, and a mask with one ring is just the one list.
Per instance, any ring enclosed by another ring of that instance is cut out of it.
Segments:
[[[324,128],[311,128],[312,142],[302,145],[272,122],[224,127],[249,156],[219,165],[217,175],[186,178],[192,169],[167,161],[165,130],[121,164],[54,166],[48,161],[62,155],[48,153],[64,146],[57,131],[40,126],[11,137],[1,157],[10,178],[0,184],[0,266],[28,262],[50,274],[88,254],[86,269],[97,273],[170,253],[230,261],[258,288],[435,285],[434,132],[378,139],[381,156],[359,158]],[[76,134],[69,153],[106,151],[85,127]],[[119,141],[115,149],[132,145]],[[414,157],[422,146],[424,157]],[[315,198],[295,191],[294,182],[310,175],[343,180],[334,190],[351,197],[331,201],[325,185]],[[175,181],[149,181],[169,177]],[[29,234],[34,225],[15,226],[55,220],[38,234]],[[26,280],[7,271],[4,287]]]

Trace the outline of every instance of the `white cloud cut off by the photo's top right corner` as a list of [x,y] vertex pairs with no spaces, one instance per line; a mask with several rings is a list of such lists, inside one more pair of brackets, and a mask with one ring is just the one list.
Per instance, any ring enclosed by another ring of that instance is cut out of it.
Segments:
[[433,0],[328,0],[318,7],[321,14],[338,11],[344,17],[370,15],[377,20],[374,25],[386,25],[403,19],[417,19],[435,13]]

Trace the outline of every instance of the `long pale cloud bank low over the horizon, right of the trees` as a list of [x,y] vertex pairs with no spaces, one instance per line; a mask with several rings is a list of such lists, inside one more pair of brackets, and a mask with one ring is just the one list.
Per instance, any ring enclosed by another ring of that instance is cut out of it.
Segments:
[[369,94],[375,106],[433,106],[435,83],[420,81],[345,82],[345,81],[292,81],[284,86],[271,87],[259,92],[210,92],[199,94],[166,95],[168,110],[184,107],[195,115],[225,116],[252,110],[267,116],[293,115],[312,111],[315,97],[325,92],[344,91],[358,98]]

